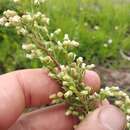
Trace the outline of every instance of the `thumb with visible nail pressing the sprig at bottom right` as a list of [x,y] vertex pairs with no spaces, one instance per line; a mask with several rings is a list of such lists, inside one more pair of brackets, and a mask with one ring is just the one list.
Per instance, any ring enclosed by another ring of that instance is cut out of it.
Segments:
[[76,130],[124,130],[125,126],[123,112],[113,105],[104,105],[89,114]]

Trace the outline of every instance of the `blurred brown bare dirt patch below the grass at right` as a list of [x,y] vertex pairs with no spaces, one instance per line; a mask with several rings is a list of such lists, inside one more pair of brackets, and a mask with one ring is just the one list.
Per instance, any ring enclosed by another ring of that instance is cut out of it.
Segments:
[[130,87],[130,69],[107,69],[103,67],[97,67],[96,71],[101,76],[103,86],[121,86]]

